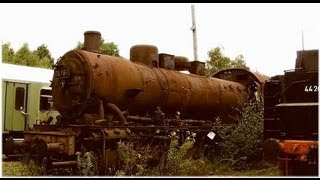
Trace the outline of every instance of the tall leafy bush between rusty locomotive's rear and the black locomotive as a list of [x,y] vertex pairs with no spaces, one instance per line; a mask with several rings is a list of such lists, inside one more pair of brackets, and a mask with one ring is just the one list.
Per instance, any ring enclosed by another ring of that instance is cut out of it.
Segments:
[[[250,102],[236,109],[236,124],[217,126],[220,141],[215,158],[229,159],[237,168],[246,168],[262,158],[263,102]],[[216,121],[221,125],[221,121]]]

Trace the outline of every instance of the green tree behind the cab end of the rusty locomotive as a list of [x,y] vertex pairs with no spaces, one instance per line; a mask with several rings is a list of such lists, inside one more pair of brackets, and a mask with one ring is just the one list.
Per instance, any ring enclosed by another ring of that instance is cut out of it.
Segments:
[[206,74],[213,75],[216,72],[228,69],[228,68],[245,68],[246,62],[242,54],[235,57],[235,59],[230,59],[229,57],[223,55],[220,47],[216,47],[208,51],[209,60],[206,61]]

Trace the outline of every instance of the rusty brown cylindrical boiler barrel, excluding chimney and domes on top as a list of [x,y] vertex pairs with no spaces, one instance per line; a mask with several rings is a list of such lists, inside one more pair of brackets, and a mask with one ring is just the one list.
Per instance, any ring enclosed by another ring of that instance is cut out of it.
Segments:
[[166,114],[181,111],[208,119],[213,118],[208,112],[229,112],[247,95],[246,87],[237,82],[150,68],[87,51],[70,51],[58,65],[70,67],[71,74],[69,79],[53,79],[53,101],[62,114],[79,109],[77,105],[85,104],[94,93],[133,113],[160,106]]

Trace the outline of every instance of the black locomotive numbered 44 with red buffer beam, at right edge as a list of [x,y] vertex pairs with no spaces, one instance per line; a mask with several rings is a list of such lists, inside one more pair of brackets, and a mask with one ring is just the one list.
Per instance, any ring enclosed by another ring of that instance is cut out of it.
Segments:
[[264,87],[264,152],[283,175],[318,175],[318,62],[318,50],[298,51]]

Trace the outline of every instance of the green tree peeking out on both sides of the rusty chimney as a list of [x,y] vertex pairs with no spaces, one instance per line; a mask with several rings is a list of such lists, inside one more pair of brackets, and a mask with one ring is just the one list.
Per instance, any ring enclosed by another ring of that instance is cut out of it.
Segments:
[[[83,47],[84,47],[84,44],[82,42],[78,42],[75,49],[80,50]],[[119,54],[118,45],[116,45],[114,42],[105,42],[103,38],[101,38],[101,41],[100,41],[100,51],[102,54],[121,57]]]

